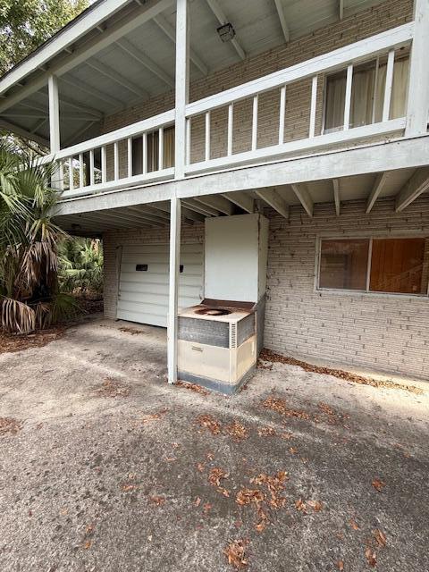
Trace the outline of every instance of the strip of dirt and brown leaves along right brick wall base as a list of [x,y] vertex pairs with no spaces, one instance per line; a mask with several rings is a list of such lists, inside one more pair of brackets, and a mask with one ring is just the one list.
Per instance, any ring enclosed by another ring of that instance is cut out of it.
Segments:
[[394,390],[409,391],[410,393],[416,393],[421,395],[424,391],[420,387],[415,385],[410,385],[408,383],[396,383],[391,380],[376,380],[372,377],[364,377],[363,375],[351,374],[342,369],[331,369],[329,367],[313,366],[312,364],[307,364],[305,361],[300,361],[295,359],[295,357],[282,356],[281,354],[276,354],[271,351],[271,349],[263,349],[259,357],[257,366],[260,369],[267,369],[264,362],[287,364],[289,366],[299,366],[306,372],[311,372],[313,374],[325,374],[333,375],[338,379],[342,379],[346,382],[360,383],[361,385],[371,385],[372,387],[386,387]]

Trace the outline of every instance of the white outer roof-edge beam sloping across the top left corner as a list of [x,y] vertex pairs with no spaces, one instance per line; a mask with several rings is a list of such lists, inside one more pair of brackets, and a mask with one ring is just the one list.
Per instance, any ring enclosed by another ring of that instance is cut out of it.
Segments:
[[[115,4],[115,2],[109,1],[109,4]],[[148,0],[142,6],[136,8],[130,14],[122,18],[121,20],[114,23],[102,34],[97,35],[95,38],[89,39],[83,46],[76,50],[70,50],[69,54],[65,55],[61,61],[53,63],[47,71],[41,73],[35,80],[29,81],[25,86],[17,90],[15,93],[8,97],[0,103],[0,113],[5,109],[8,109],[12,105],[15,105],[22,99],[25,99],[30,94],[38,91],[41,88],[45,88],[47,84],[47,79],[50,75],[61,76],[67,71],[71,71],[80,63],[85,62],[88,58],[96,55],[98,52],[108,47],[112,42],[116,41],[122,36],[128,34],[133,29],[138,28],[146,21],[151,20],[157,14],[163,12],[172,4],[172,0]],[[116,1],[116,5],[120,5]],[[101,11],[105,8],[105,3],[100,6]],[[51,43],[50,43],[51,45]],[[64,48],[65,49],[65,48]],[[32,63],[34,58],[29,58],[29,63]],[[12,85],[16,83],[13,82]],[[0,93],[4,93],[6,89],[11,88],[10,82],[0,80]]]

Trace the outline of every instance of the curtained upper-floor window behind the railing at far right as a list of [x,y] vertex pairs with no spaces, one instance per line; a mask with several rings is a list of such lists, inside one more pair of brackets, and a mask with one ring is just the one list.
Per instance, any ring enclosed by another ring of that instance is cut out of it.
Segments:
[[[397,58],[393,67],[390,119],[406,113],[408,90],[408,56]],[[350,128],[382,121],[387,58],[356,66],[353,70],[350,103]],[[324,132],[341,130],[344,124],[347,71],[326,79]]]

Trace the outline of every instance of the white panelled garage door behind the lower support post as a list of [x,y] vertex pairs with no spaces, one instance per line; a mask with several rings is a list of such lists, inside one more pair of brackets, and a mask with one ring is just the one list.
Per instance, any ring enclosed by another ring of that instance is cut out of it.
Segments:
[[[181,245],[179,307],[198,304],[203,293],[203,245]],[[139,324],[167,325],[168,244],[122,248],[118,318]]]

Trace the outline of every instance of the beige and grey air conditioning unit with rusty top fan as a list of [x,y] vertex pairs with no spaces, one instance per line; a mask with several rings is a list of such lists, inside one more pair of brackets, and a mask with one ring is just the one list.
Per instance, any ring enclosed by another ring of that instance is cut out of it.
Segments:
[[178,325],[179,379],[231,394],[254,371],[257,319],[252,309],[203,303],[182,310]]

